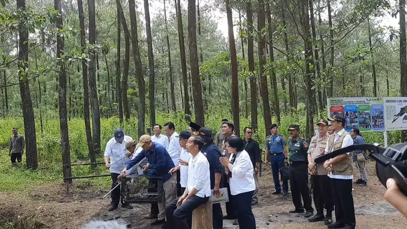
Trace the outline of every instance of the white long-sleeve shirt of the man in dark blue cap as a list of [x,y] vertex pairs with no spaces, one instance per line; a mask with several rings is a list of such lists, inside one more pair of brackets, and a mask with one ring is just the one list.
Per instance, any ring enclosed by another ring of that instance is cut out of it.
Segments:
[[120,174],[131,160],[131,157],[126,156],[128,152],[126,150],[126,141],[130,140],[133,140],[133,138],[125,135],[121,144],[114,137],[107,142],[104,156],[110,159],[110,173]]

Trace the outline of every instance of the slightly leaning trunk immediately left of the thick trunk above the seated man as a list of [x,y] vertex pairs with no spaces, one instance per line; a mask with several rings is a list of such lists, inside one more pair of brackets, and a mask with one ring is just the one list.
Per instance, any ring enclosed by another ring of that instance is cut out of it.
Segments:
[[188,95],[188,76],[187,76],[187,60],[185,55],[185,42],[184,42],[184,26],[182,24],[182,12],[180,0],[174,0],[176,6],[176,13],[178,19],[178,40],[180,43],[180,58],[181,58],[181,70],[182,79],[184,84],[184,113],[187,122],[191,121],[191,109],[189,107],[189,95]]

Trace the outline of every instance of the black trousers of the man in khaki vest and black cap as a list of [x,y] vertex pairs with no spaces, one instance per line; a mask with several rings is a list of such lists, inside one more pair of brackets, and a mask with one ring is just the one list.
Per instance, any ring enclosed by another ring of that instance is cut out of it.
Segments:
[[352,179],[342,180],[331,178],[332,196],[335,204],[335,218],[337,222],[355,228],[355,206],[352,196]]

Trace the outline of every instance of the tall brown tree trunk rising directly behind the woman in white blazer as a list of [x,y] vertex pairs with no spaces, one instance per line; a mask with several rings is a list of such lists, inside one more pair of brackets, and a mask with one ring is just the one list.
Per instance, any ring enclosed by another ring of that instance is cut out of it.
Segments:
[[240,119],[239,119],[239,80],[238,80],[238,60],[236,55],[236,44],[235,35],[233,30],[233,20],[232,20],[232,7],[230,0],[226,0],[226,17],[227,17],[227,27],[229,34],[229,50],[230,50],[230,62],[231,62],[231,86],[232,86],[232,116],[233,123],[235,124],[235,134],[240,136]]

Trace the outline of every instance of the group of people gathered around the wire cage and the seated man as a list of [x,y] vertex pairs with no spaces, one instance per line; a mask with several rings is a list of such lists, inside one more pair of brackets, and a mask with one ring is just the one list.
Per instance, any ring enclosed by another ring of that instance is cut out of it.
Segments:
[[[112,188],[119,175],[125,177],[129,169],[144,158],[148,165],[144,173],[162,177],[163,199],[151,203],[152,225],[162,228],[191,228],[192,211],[208,202],[212,192],[228,188],[227,215],[223,216],[219,203],[213,204],[213,228],[223,227],[223,219],[237,219],[240,228],[255,228],[251,206],[257,204],[257,172],[260,162],[258,143],[252,139],[253,129],[245,128],[245,139],[234,135],[234,125],[222,120],[222,129],[216,134],[211,130],[190,123],[188,131],[175,131],[173,123],[162,127],[154,125],[154,135],[142,135],[138,143],[117,129],[106,145],[105,166],[110,169]],[[169,138],[168,138],[169,136]],[[245,150],[247,149],[247,151]],[[222,153],[221,153],[222,152]],[[119,171],[121,167],[121,171]],[[211,191],[212,190],[212,191]],[[111,192],[109,211],[120,204],[120,188]],[[132,209],[127,203],[122,207]]]

